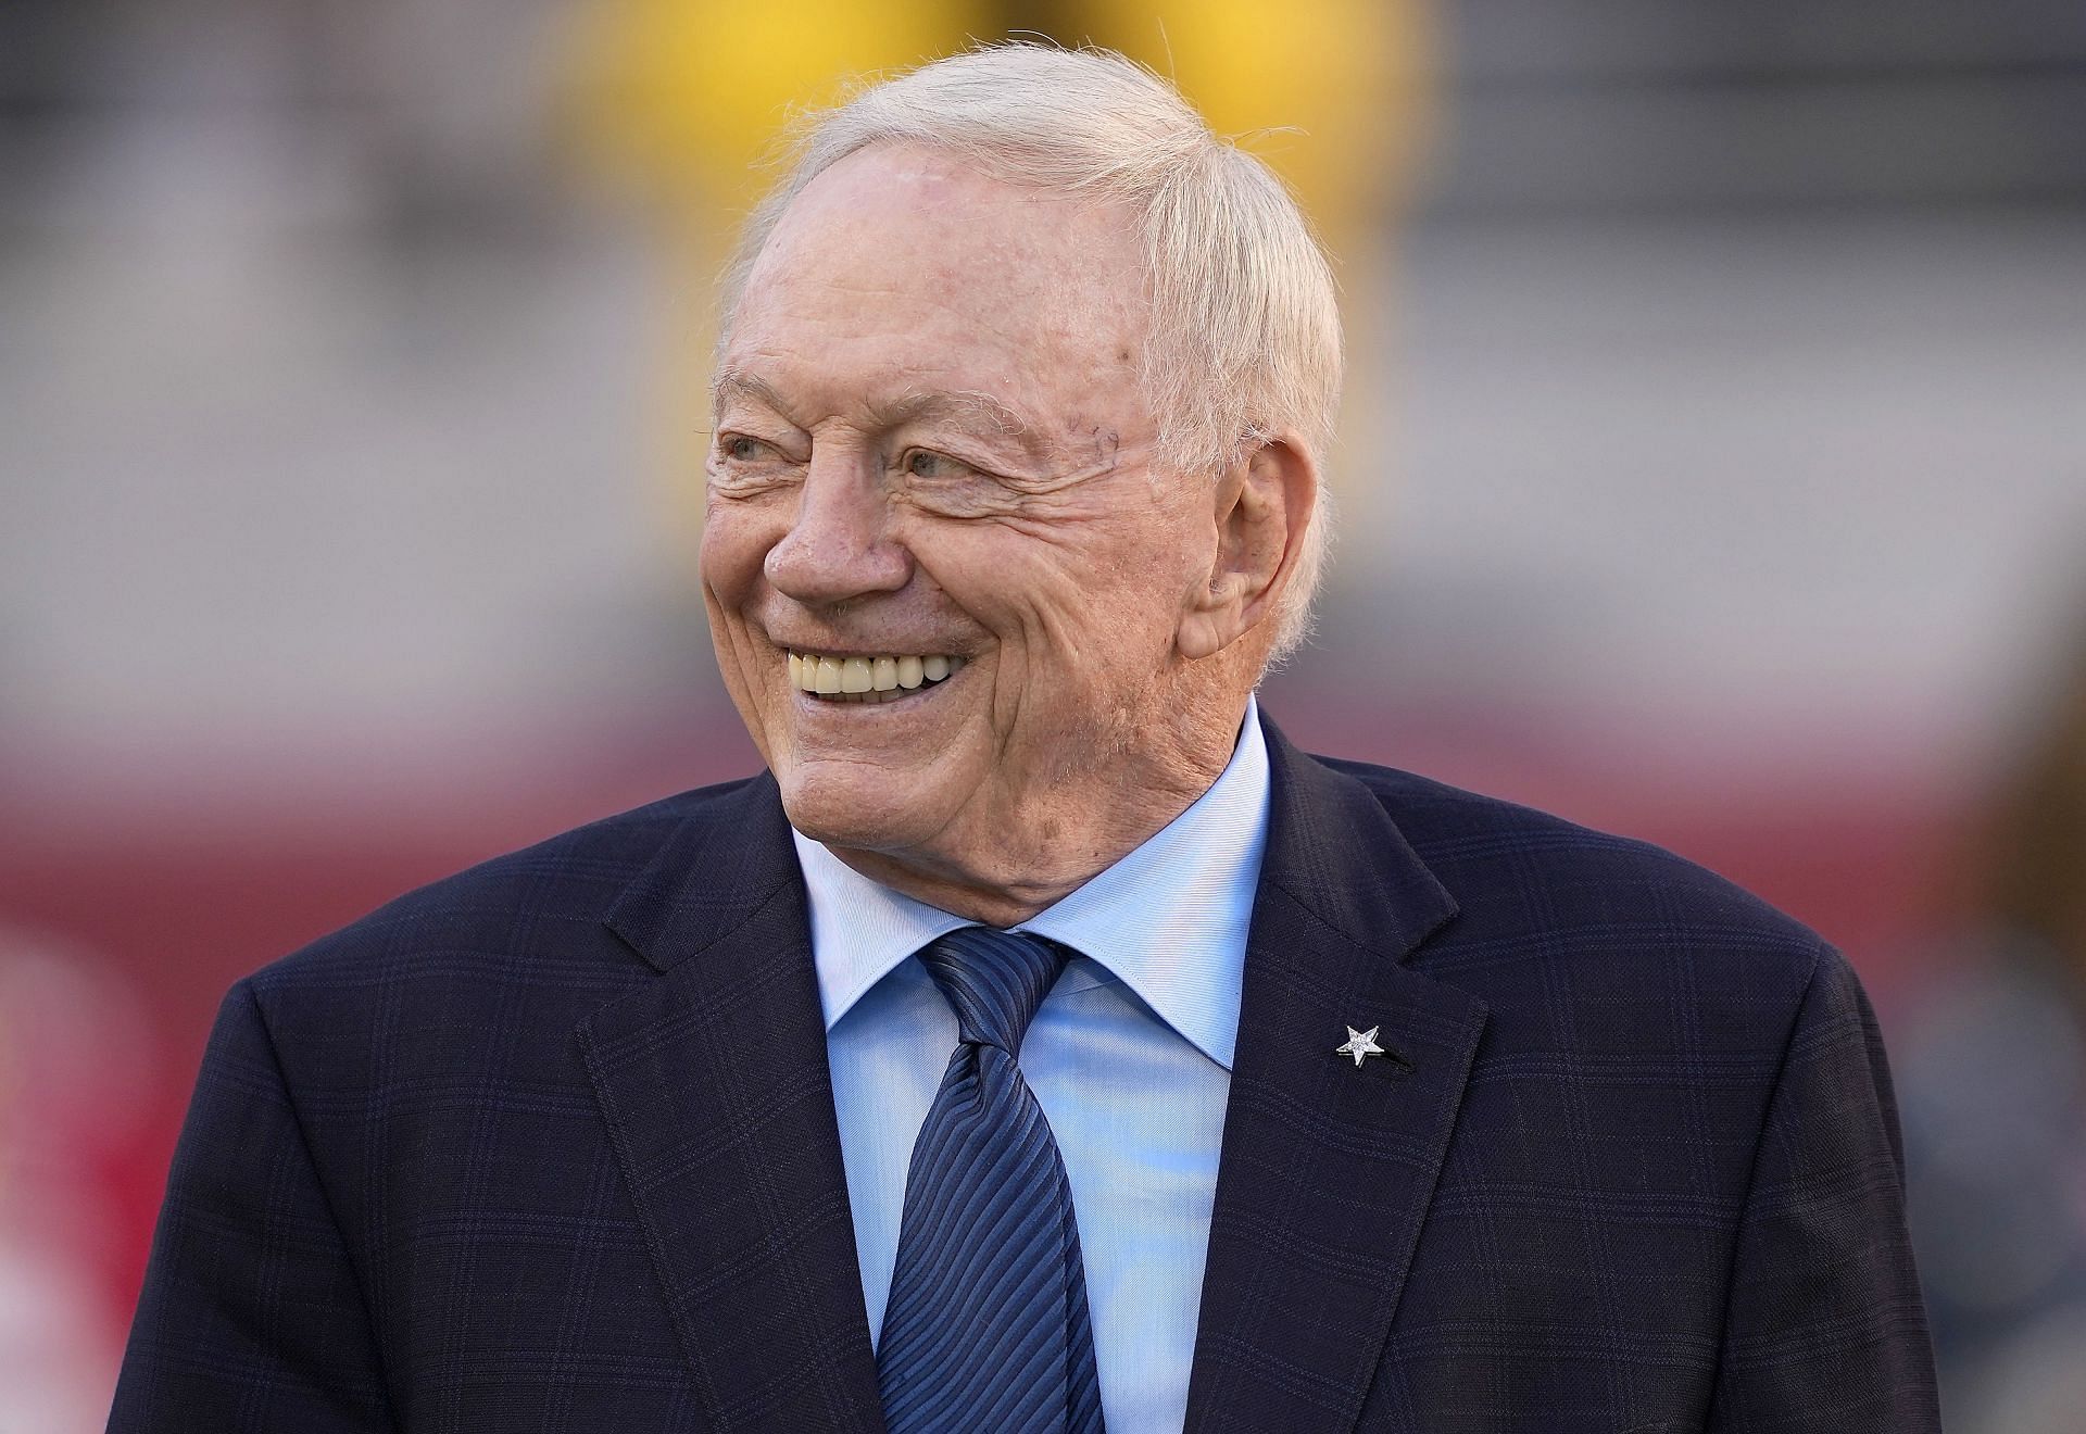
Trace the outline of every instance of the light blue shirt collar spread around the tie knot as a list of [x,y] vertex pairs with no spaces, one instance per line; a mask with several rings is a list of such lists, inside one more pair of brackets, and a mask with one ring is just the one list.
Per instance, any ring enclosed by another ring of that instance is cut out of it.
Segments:
[[[801,832],[791,836],[811,907],[826,1030],[905,957],[972,925],[872,882]],[[1229,1071],[1266,838],[1268,748],[1258,704],[1247,698],[1231,763],[1208,792],[1122,861],[1014,930],[1089,957]]]

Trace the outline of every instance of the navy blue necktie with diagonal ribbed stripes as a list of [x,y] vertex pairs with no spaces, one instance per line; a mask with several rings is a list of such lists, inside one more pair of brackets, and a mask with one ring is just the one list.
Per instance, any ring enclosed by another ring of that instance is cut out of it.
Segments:
[[891,1434],[1101,1434],[1072,1186],[1016,1065],[1068,957],[987,925],[920,953],[955,1009],[957,1046],[905,1173],[876,1342]]

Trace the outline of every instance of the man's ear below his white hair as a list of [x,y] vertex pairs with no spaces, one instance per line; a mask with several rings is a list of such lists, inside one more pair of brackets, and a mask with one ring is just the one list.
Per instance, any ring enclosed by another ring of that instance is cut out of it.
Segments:
[[1222,652],[1277,613],[1318,504],[1318,463],[1293,438],[1270,438],[1218,475],[1214,502],[1210,571],[1189,592],[1177,638],[1191,661]]

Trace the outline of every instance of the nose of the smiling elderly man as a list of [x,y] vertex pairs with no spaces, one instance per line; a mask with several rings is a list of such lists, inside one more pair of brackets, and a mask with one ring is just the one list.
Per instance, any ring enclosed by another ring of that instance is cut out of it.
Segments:
[[776,592],[826,607],[912,579],[912,554],[891,538],[891,504],[870,463],[814,454],[797,492],[797,517],[763,565]]

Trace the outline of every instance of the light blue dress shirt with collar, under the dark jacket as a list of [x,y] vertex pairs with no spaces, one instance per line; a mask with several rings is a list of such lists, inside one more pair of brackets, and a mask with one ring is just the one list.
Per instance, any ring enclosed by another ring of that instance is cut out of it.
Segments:
[[[1247,698],[1231,763],[1193,807],[1014,928],[1081,953],[1028,1028],[1020,1065],[1072,1182],[1110,1434],[1179,1430],[1187,1415],[1266,832],[1268,750]],[[972,923],[868,880],[803,834],[797,859],[876,1338],[912,1146],[955,1048],[955,1013],[914,953]]]

